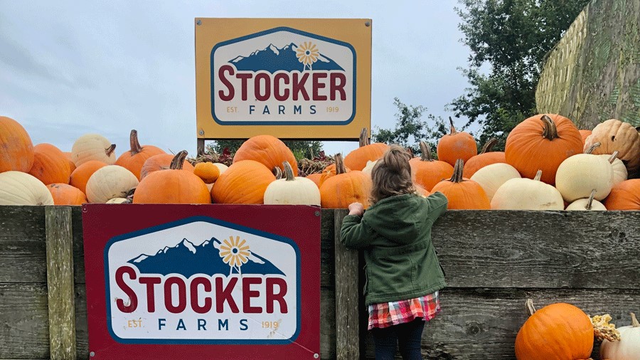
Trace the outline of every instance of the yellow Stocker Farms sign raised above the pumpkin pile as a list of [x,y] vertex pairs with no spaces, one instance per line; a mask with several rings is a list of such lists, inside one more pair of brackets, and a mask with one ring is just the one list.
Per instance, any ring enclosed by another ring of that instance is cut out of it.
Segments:
[[371,20],[196,18],[200,139],[358,139],[371,122]]

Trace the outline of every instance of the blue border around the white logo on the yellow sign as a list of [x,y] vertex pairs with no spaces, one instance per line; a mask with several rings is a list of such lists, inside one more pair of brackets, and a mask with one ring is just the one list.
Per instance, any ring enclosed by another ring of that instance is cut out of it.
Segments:
[[[337,45],[345,46],[351,53],[353,53],[353,111],[351,112],[351,117],[345,121],[317,121],[317,120],[297,120],[297,121],[224,121],[219,120],[218,117],[215,117],[215,88],[213,87],[214,78],[215,78],[215,69],[213,68],[213,53],[222,47],[232,43],[239,43],[240,41],[249,40],[251,38],[257,38],[259,36],[264,36],[270,33],[275,33],[278,31],[289,31],[290,33],[297,33],[299,35],[309,36],[310,38],[316,38],[321,41],[326,41],[328,43],[335,43]],[[217,43],[211,49],[210,55],[210,71],[211,71],[211,116],[213,117],[213,121],[218,123],[218,125],[348,125],[356,118],[356,75],[358,75],[358,71],[356,69],[356,49],[351,46],[350,43],[345,43],[344,41],[338,41],[332,38],[326,38],[324,36],[319,36],[314,33],[307,33],[306,31],[297,30],[295,28],[289,28],[286,26],[281,26],[278,28],[272,28],[270,30],[260,31],[259,33],[252,33],[251,35],[242,36],[240,38],[234,38],[228,41],[223,41],[221,43]]]

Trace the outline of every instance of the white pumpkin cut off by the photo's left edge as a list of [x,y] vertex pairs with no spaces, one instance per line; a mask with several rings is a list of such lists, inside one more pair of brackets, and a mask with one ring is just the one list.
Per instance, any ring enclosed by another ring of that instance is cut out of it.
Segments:
[[0,173],[0,205],[53,205],[47,186],[21,171]]

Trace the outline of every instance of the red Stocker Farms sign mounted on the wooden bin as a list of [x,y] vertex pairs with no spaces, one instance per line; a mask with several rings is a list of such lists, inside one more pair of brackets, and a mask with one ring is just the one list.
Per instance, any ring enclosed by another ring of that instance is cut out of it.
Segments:
[[92,359],[318,359],[320,209],[85,204]]

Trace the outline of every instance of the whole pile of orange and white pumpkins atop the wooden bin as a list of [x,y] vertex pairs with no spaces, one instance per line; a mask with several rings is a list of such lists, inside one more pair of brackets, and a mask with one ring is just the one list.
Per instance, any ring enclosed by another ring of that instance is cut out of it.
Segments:
[[[640,210],[640,133],[619,120],[578,130],[560,115],[535,115],[512,130],[504,152],[478,154],[475,139],[451,132],[437,144],[437,160],[421,143],[410,161],[419,194],[440,191],[450,209]],[[370,171],[388,149],[360,147],[318,174],[297,176],[292,151],[279,139],[259,135],[242,144],[233,164],[191,165],[186,152],[166,154],[141,145],[136,130],[129,149],[98,134],[75,141],[71,152],[31,143],[25,129],[0,117],[0,204],[266,203],[346,208],[368,206]],[[132,200],[131,200],[132,199]]]

